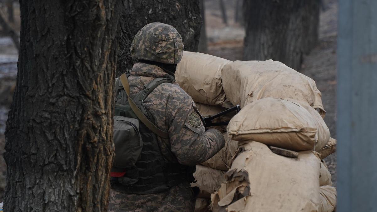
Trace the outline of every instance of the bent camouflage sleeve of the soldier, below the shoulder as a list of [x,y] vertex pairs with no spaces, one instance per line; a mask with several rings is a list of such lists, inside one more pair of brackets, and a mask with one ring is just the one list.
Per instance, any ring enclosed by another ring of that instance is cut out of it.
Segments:
[[216,129],[205,131],[192,100],[181,105],[169,127],[171,150],[183,165],[201,164],[224,147],[224,136]]

